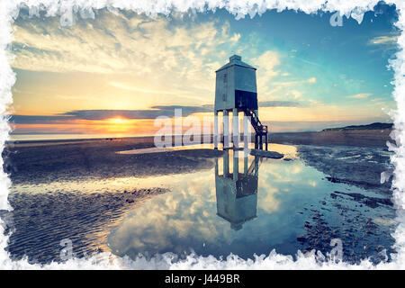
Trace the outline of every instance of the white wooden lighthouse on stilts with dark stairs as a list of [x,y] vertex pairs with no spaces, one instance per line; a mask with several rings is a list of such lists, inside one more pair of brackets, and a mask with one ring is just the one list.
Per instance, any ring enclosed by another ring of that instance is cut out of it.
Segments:
[[256,68],[242,62],[242,58],[233,55],[229,63],[220,67],[216,73],[215,104],[214,104],[214,148],[218,148],[218,114],[223,113],[223,147],[229,148],[229,112],[233,118],[233,148],[239,148],[238,112],[243,112],[244,145],[248,146],[248,119],[256,131],[255,148],[263,148],[263,140],[267,149],[267,126],[258,119]]

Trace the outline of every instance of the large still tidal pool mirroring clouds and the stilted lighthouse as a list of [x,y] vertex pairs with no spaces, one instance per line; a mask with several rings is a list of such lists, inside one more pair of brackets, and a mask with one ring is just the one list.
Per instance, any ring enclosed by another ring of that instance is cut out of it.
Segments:
[[[284,159],[243,157],[242,152],[235,159],[229,150],[211,169],[153,177],[150,181],[170,193],[136,207],[112,229],[112,253],[252,258],[272,249],[295,255],[315,248],[327,254],[334,238],[342,241],[349,261],[381,260],[387,250],[393,252],[392,207],[370,207],[350,196],[378,200],[381,193],[327,180],[306,166],[293,146],[271,148]],[[382,225],[382,219],[391,225]]]

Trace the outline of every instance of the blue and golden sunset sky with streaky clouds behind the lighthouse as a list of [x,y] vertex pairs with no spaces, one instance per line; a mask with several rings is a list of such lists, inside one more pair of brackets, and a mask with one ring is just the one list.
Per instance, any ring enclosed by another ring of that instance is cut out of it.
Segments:
[[[332,14],[225,10],[150,18],[95,10],[62,27],[21,10],[11,51],[16,135],[153,135],[158,116],[212,115],[215,70],[238,54],[257,67],[259,115],[272,131],[389,122],[387,68],[399,35],[393,6],[361,24]],[[31,137],[31,136],[29,136]]]

